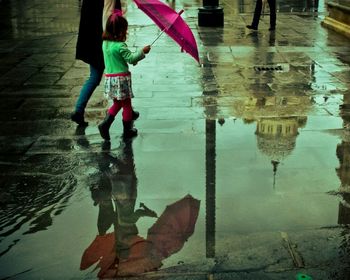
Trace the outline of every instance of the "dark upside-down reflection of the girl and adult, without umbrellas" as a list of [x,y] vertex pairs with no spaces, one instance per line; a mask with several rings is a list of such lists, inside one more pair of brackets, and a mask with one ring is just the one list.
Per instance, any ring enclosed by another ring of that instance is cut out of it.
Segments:
[[137,177],[131,142],[131,139],[123,141],[123,150],[119,157],[103,154],[100,161],[103,176],[99,178],[98,185],[91,188],[94,204],[99,206],[99,234],[105,235],[112,224],[114,225],[117,256],[122,259],[129,254],[130,240],[138,235],[136,222],[139,218],[157,217],[143,203],[135,211]]

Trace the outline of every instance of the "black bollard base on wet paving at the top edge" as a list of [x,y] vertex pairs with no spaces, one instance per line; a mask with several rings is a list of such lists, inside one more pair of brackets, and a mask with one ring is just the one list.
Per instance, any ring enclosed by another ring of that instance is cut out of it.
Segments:
[[199,26],[224,26],[224,10],[222,7],[219,7],[219,0],[203,0],[203,7],[198,10]]

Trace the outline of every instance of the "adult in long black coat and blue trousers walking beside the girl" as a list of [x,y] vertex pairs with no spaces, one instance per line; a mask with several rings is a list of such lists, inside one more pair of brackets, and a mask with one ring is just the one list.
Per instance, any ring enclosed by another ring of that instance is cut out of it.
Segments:
[[75,110],[71,115],[72,121],[78,125],[88,125],[84,119],[85,107],[92,93],[100,84],[104,70],[102,54],[103,21],[112,13],[114,7],[121,8],[120,0],[82,1],[75,57],[89,64],[90,76],[80,91]]

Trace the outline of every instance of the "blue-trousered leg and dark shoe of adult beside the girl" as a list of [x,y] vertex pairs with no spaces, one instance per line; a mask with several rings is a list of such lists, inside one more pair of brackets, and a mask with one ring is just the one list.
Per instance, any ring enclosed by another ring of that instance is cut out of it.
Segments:
[[98,69],[90,65],[90,77],[85,81],[75,105],[75,111],[71,115],[72,121],[76,122],[78,125],[88,125],[84,119],[85,107],[92,93],[100,84],[102,75],[103,69]]

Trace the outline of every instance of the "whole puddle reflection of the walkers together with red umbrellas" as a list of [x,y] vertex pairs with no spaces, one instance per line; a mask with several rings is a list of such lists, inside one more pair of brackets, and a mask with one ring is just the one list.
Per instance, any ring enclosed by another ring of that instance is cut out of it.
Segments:
[[[142,202],[136,209],[137,177],[130,139],[122,141],[118,156],[103,153],[98,162],[101,173],[91,187],[94,205],[99,208],[98,235],[85,249],[80,269],[97,263],[101,278],[157,270],[193,234],[200,201],[187,195],[166,206],[159,216]],[[143,217],[155,220],[147,237],[137,227]],[[112,232],[107,233],[109,229]]]

